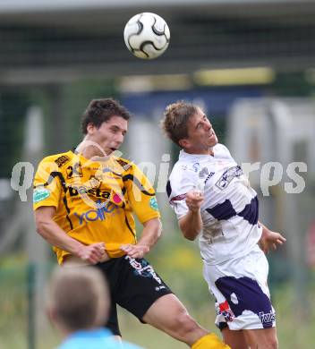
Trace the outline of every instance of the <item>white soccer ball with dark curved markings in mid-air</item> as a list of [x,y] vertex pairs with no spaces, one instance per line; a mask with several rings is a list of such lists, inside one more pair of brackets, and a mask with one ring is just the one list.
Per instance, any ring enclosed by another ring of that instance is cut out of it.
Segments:
[[166,51],[170,31],[166,21],[158,14],[138,13],[127,22],[123,38],[133,55],[153,59]]

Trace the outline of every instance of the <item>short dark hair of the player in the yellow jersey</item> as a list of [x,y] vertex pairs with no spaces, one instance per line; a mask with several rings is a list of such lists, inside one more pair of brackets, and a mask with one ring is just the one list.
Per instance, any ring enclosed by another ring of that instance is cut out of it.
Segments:
[[129,120],[131,114],[113,98],[92,99],[87,110],[82,115],[81,132],[87,134],[89,123],[93,123],[97,128],[102,123],[108,121],[112,116],[117,115]]

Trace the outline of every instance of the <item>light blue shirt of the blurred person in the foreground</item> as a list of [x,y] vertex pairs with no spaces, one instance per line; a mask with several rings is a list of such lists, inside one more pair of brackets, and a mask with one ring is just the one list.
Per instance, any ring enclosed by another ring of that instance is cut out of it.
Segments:
[[141,349],[130,343],[120,343],[105,328],[81,330],[68,336],[57,349]]

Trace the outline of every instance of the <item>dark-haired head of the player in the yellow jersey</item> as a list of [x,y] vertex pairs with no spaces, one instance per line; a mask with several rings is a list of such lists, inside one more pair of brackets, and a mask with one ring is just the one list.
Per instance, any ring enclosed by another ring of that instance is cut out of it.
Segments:
[[86,140],[98,143],[109,154],[123,143],[130,117],[115,99],[93,99],[82,116],[81,131]]

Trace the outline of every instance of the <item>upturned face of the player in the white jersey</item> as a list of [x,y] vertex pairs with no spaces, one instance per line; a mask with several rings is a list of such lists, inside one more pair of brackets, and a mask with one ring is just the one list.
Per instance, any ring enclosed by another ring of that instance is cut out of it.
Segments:
[[183,140],[183,148],[194,154],[209,154],[217,144],[217,135],[207,115],[200,108],[190,117],[187,128],[188,138]]

